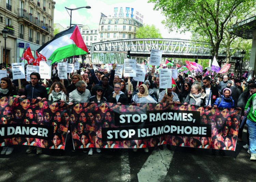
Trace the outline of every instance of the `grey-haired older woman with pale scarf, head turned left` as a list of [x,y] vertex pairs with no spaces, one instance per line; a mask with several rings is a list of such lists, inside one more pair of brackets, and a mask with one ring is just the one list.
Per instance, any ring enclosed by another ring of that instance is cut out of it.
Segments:
[[187,96],[183,104],[205,106],[205,97],[206,94],[203,92],[202,87],[199,84],[195,84],[192,86],[190,94]]

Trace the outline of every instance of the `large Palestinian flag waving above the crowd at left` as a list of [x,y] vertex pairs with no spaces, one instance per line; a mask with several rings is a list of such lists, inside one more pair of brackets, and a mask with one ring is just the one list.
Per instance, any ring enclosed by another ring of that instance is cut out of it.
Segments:
[[75,25],[68,30],[56,34],[51,41],[43,44],[37,52],[52,60],[51,64],[53,64],[70,56],[88,54],[88,49],[78,26]]

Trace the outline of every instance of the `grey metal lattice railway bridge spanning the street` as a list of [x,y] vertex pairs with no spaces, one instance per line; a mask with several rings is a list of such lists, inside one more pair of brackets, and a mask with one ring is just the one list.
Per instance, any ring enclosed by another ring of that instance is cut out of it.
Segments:
[[[89,46],[88,46],[89,47]],[[87,48],[88,48],[87,47]],[[88,48],[91,53],[127,52],[134,57],[150,57],[150,50],[162,50],[162,57],[212,59],[209,42],[172,38],[120,39],[93,43]],[[225,59],[224,48],[219,50],[218,59]],[[234,58],[234,57],[232,57]]]

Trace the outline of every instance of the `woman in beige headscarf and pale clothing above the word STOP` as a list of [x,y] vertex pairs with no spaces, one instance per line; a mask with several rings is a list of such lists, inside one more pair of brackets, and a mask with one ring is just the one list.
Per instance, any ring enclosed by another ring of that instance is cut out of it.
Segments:
[[142,84],[139,87],[139,92],[132,97],[132,105],[137,103],[157,103],[153,97],[148,94],[147,86]]

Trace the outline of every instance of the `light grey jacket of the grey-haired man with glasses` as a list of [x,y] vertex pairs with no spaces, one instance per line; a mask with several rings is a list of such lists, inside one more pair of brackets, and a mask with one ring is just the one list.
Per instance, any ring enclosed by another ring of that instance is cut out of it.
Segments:
[[91,93],[88,89],[86,89],[82,94],[75,89],[69,93],[69,103],[87,103],[90,97]]

